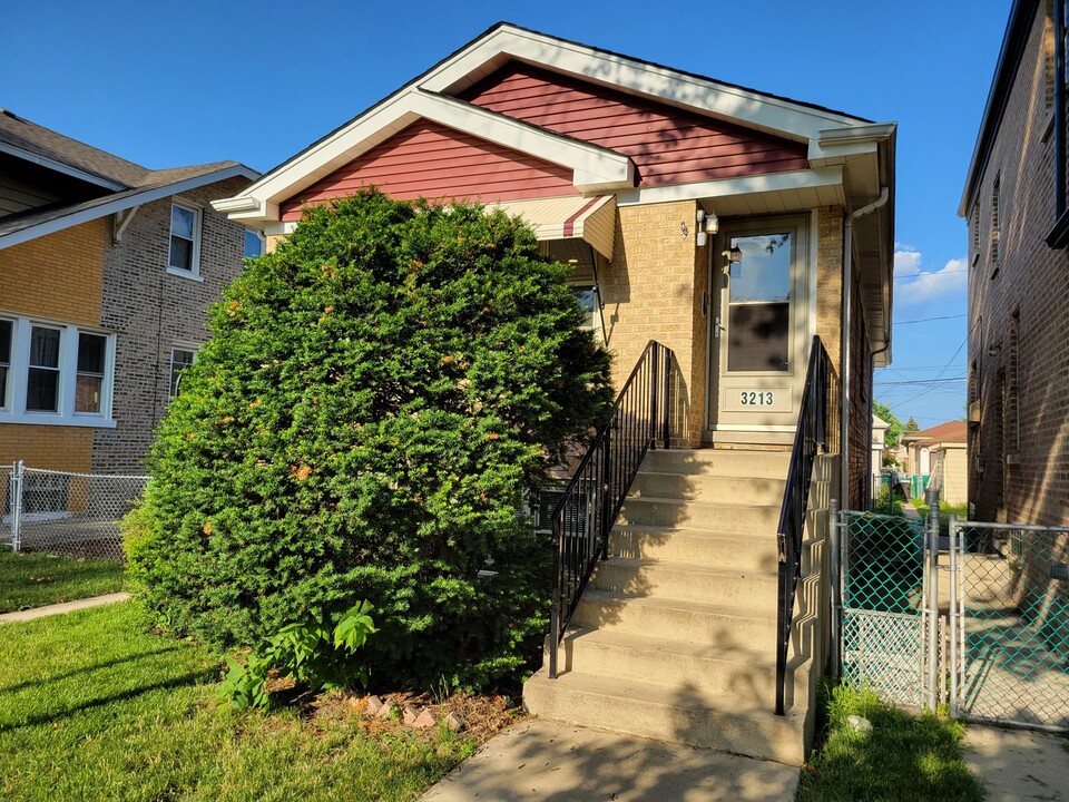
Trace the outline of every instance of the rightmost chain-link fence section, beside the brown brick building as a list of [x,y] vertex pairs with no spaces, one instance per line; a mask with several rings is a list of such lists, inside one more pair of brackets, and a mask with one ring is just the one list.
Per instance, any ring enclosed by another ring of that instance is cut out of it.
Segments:
[[1069,731],[1069,528],[950,524],[954,715]]

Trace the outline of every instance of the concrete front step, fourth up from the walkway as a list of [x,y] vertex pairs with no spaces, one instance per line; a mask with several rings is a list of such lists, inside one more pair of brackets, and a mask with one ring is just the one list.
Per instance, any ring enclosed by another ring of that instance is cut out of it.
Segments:
[[704,604],[749,604],[761,610],[774,610],[777,599],[775,574],[665,560],[611,557],[598,563],[589,585],[632,596],[659,596]]

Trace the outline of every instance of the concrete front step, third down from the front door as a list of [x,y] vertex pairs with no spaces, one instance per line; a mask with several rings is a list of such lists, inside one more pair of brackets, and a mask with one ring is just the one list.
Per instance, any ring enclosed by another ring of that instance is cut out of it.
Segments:
[[775,536],[775,528],[779,524],[779,505],[746,506],[674,498],[628,498],[624,501],[617,524]]

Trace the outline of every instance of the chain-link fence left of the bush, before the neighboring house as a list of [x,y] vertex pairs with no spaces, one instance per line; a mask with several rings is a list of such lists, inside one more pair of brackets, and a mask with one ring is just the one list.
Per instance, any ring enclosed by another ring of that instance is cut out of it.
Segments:
[[0,545],[14,551],[122,560],[119,521],[145,491],[148,477],[70,473],[26,468],[0,475]]

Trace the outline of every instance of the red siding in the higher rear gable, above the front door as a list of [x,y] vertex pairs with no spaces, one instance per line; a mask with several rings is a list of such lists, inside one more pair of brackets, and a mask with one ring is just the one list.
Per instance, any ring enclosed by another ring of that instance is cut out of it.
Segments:
[[639,186],[806,169],[806,146],[513,62],[461,95],[477,106],[626,154]]

